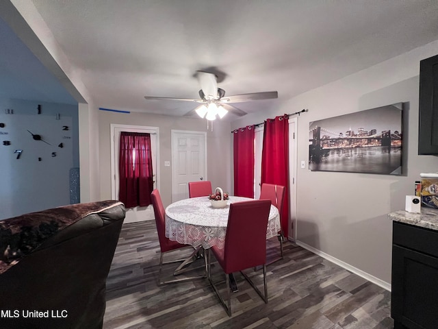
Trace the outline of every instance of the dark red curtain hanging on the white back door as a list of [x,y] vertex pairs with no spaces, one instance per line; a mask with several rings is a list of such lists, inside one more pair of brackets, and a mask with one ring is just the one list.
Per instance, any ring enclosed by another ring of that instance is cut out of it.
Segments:
[[127,208],[149,206],[153,191],[151,134],[120,133],[118,199]]

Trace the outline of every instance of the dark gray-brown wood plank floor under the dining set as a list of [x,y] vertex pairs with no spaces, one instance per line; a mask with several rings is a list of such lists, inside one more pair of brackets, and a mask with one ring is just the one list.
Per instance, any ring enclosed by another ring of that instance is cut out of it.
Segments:
[[[279,242],[271,239],[268,258],[278,254]],[[232,294],[233,317],[228,317],[207,279],[159,287],[158,263],[155,222],[124,224],[107,280],[103,328],[394,327],[388,291],[294,243],[285,244],[283,260],[268,266],[268,304],[240,273],[236,275],[239,291]],[[202,271],[202,260],[193,265],[194,272]],[[165,266],[166,273],[176,267]],[[211,273],[215,280],[223,276],[217,264]],[[246,273],[263,287],[262,271]]]

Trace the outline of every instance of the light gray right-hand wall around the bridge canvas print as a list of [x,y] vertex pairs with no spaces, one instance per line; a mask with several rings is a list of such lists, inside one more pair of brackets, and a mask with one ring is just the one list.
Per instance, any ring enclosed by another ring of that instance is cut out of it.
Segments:
[[[298,95],[274,113],[248,115],[232,128],[268,117],[309,112],[298,118],[298,162],[309,158],[309,123],[404,102],[404,174],[371,175],[298,169],[297,241],[381,281],[391,282],[391,221],[404,209],[421,172],[438,171],[438,157],[417,155],[419,62],[437,54],[438,41]],[[280,95],[281,99],[287,99]],[[299,167],[298,167],[299,168]]]

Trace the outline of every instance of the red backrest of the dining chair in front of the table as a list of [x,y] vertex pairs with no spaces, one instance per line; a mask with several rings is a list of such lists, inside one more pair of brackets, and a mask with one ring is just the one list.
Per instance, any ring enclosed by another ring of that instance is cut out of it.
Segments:
[[224,245],[224,271],[233,273],[266,263],[270,200],[230,204]]

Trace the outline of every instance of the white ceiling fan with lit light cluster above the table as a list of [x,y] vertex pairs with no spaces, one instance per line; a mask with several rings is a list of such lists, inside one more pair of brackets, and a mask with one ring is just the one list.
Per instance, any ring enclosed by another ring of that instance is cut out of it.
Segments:
[[155,97],[144,96],[145,99],[164,99],[173,101],[193,101],[201,103],[200,106],[194,108],[190,112],[184,114],[190,116],[196,112],[199,117],[213,121],[218,116],[220,119],[225,114],[231,112],[240,117],[246,114],[245,111],[232,106],[230,103],[241,103],[244,101],[258,101],[260,99],[274,99],[278,98],[279,94],[276,91],[263,91],[260,93],[241,94],[225,97],[225,90],[218,88],[218,78],[214,73],[196,71],[196,77],[201,90],[199,90],[199,99],[190,98],[172,98],[172,97]]

